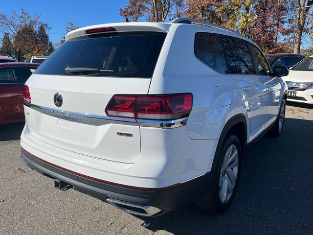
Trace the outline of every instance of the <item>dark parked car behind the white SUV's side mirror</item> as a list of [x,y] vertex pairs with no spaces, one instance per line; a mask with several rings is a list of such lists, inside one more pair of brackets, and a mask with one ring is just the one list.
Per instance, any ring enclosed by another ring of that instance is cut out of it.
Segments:
[[285,66],[288,69],[305,58],[300,54],[267,54],[265,57],[268,59],[270,67]]

